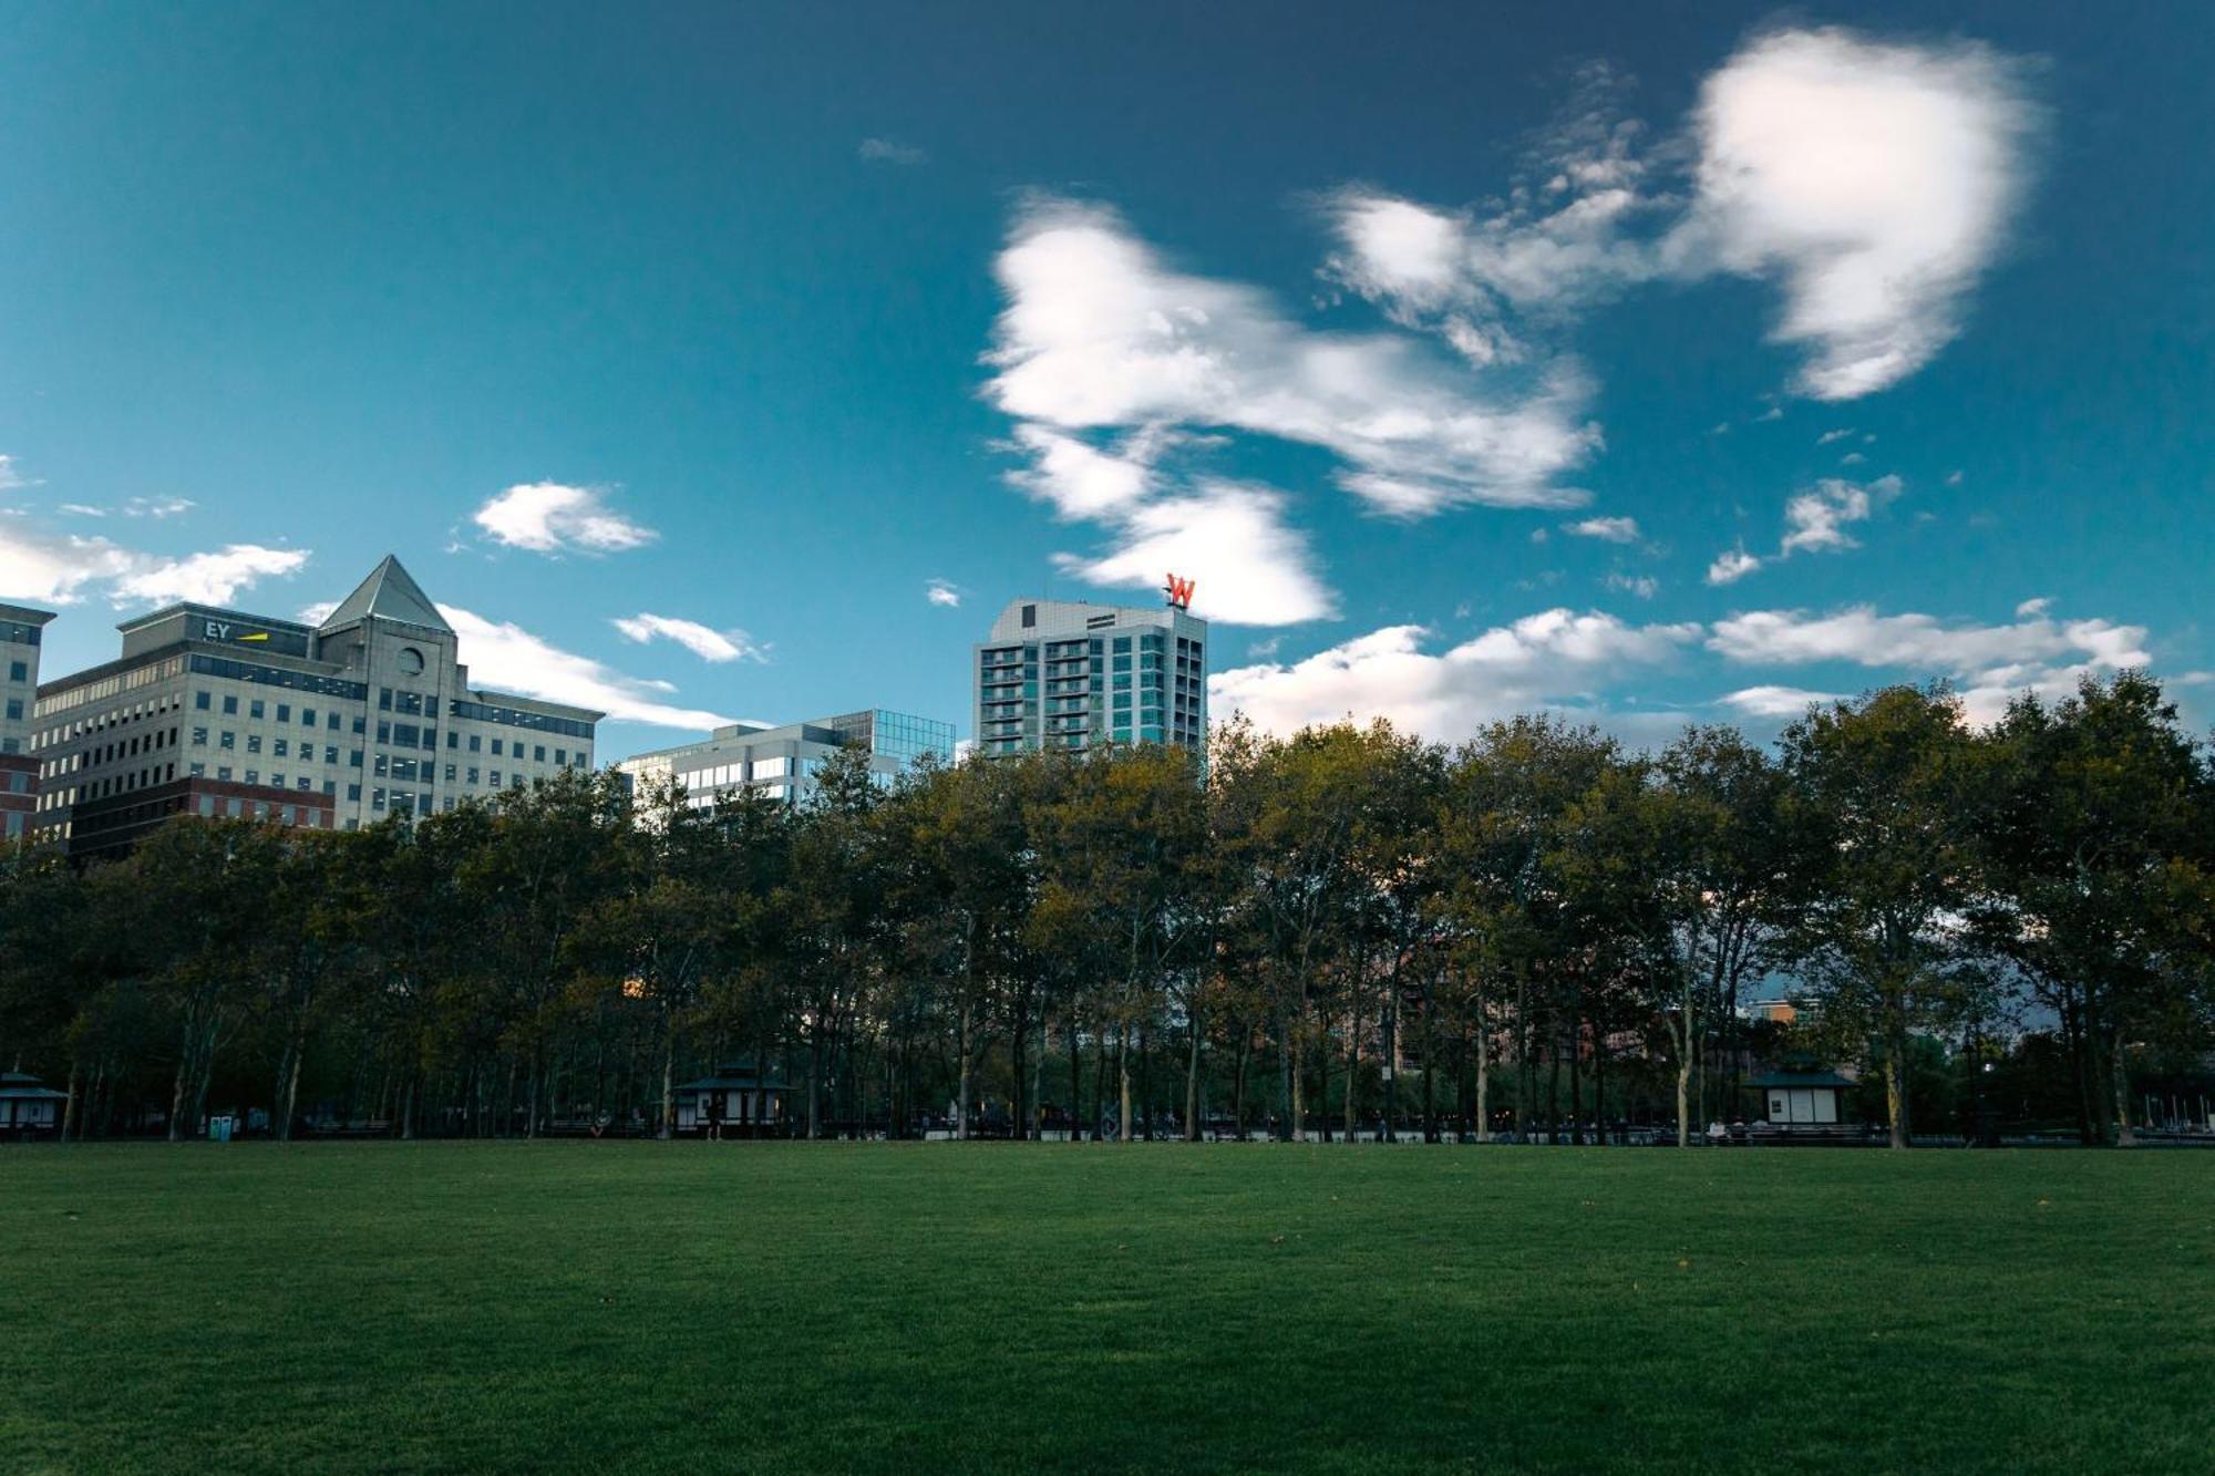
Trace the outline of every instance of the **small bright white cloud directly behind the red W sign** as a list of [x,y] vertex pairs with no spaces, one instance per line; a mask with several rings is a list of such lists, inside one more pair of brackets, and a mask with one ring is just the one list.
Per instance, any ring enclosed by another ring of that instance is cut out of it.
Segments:
[[1132,508],[1116,534],[1108,554],[1057,554],[1057,563],[1085,583],[1130,590],[1158,590],[1174,572],[1196,581],[1192,614],[1232,625],[1296,625],[1336,612],[1274,488],[1207,479]]

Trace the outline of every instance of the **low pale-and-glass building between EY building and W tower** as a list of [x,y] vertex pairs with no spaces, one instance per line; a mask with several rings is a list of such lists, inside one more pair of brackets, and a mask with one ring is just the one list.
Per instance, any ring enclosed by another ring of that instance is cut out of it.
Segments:
[[680,780],[687,802],[700,809],[749,785],[795,804],[813,789],[824,760],[842,749],[864,749],[870,773],[890,782],[926,754],[950,760],[955,725],[882,707],[784,727],[733,722],[702,742],[633,754],[616,769],[633,785]]

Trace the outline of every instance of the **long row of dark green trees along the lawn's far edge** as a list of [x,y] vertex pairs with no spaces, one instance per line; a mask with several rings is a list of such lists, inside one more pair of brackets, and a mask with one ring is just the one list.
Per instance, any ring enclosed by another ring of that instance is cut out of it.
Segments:
[[[1865,1073],[1892,1141],[1962,1070],[2084,1141],[2215,1022],[2215,765],[2142,674],[1812,707],[1630,751],[1548,716],[924,765],[696,807],[569,773],[354,833],[175,818],[0,862],[0,1055],[64,1135],[255,1104],[667,1135],[749,1062],[791,1130],[1679,1141],[1759,1059]],[[1792,1024],[1750,1017],[1785,991]],[[2033,1113],[2033,1115],[2036,1115]]]

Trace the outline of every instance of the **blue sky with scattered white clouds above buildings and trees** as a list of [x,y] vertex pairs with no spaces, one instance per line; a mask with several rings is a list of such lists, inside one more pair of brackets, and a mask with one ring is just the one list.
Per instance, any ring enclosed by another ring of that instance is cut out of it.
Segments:
[[2211,62],[2188,4],[16,7],[0,596],[55,674],[396,552],[609,758],[966,727],[1006,598],[1170,567],[1276,727],[2140,663],[2199,720]]

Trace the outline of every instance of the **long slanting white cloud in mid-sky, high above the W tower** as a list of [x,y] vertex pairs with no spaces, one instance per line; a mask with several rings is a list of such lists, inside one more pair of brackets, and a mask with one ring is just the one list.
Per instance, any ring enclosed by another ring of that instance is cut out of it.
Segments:
[[[1331,452],[1340,485],[1389,514],[1588,501],[1557,485],[1599,439],[1568,363],[1480,394],[1418,339],[1307,330],[1256,288],[1172,270],[1114,211],[1070,199],[1019,211],[997,275],[986,394],[1043,428],[1028,432],[1034,454],[1059,450],[1050,432],[1243,430]],[[1092,496],[1127,496],[1130,479],[1110,470]]]

